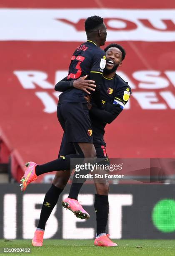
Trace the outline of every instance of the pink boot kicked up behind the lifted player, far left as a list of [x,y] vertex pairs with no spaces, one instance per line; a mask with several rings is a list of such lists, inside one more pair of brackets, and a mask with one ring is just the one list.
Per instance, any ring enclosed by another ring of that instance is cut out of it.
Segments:
[[35,174],[35,167],[37,166],[34,162],[28,162],[25,164],[27,167],[24,176],[21,179],[21,191],[25,191],[26,187],[30,182],[33,182],[35,179],[37,179],[37,175]]

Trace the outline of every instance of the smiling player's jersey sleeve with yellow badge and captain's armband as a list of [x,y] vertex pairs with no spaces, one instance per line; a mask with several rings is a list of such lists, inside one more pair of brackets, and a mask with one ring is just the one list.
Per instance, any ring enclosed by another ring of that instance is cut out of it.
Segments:
[[128,102],[131,95],[131,88],[126,84],[126,86],[121,87],[120,90],[115,94],[115,98],[112,104],[119,105],[123,109]]

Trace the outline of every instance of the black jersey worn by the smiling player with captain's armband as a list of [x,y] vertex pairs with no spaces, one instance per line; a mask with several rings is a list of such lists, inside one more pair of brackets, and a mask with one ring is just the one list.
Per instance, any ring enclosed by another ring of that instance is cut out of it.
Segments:
[[[115,74],[112,79],[105,78],[103,76],[101,84],[101,98],[102,103],[119,104],[120,108],[124,108],[128,102],[131,94],[131,88],[127,82],[125,82],[119,75]],[[105,145],[103,139],[105,133],[106,123],[94,118],[90,114],[93,129],[93,143],[94,145]]]

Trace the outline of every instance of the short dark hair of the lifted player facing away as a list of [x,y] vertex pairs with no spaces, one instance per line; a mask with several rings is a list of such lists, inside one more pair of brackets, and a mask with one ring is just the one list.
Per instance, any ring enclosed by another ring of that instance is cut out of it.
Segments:
[[85,31],[87,33],[92,32],[94,28],[99,28],[103,24],[103,18],[99,16],[91,16],[85,20]]

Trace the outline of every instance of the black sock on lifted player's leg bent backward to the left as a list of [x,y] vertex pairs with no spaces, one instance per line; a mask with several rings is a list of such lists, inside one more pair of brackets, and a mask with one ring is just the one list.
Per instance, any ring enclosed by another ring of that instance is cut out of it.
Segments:
[[37,165],[35,168],[35,173],[37,176],[47,173],[47,172],[53,172],[53,171],[70,171],[70,159],[73,158],[80,158],[80,155],[74,154],[74,155],[67,155],[67,156],[61,156],[58,159],[48,162],[46,164]]

